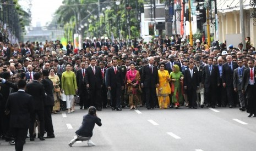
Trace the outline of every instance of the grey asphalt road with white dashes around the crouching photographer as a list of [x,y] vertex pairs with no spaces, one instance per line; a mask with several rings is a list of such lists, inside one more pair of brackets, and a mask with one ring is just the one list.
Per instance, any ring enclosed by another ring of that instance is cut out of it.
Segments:
[[[87,110],[52,114],[56,138],[26,140],[24,150],[256,150],[256,118],[238,108],[104,109],[97,112],[102,126],[95,126],[91,140],[68,143],[75,137]],[[0,150],[14,150],[0,141]]]

